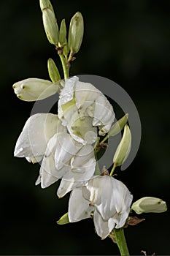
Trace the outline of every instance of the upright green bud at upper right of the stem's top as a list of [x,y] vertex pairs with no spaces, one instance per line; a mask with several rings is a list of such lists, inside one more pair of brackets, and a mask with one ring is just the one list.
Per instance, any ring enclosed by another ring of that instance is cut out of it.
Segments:
[[72,17],[69,26],[69,48],[72,53],[77,53],[82,44],[82,37],[84,33],[84,23],[82,14],[76,12]]

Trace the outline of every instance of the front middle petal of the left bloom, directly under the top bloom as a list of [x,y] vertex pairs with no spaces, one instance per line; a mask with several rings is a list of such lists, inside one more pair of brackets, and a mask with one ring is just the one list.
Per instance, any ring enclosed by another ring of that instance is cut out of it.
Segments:
[[67,133],[58,134],[55,148],[55,167],[59,170],[68,162],[77,151],[82,148],[81,143],[73,140],[71,135]]

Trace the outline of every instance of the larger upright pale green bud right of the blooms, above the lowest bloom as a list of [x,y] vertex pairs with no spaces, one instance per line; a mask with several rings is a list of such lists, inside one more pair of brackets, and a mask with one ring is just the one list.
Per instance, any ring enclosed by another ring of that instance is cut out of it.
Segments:
[[115,166],[120,166],[125,162],[128,154],[131,150],[131,130],[128,124],[125,124],[123,138],[121,139],[119,145],[117,146],[115,156],[113,157],[113,162]]

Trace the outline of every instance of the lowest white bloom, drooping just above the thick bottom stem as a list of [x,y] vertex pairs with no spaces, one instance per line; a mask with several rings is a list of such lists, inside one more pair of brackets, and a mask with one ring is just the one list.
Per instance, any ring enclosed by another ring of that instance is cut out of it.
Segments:
[[86,219],[93,213],[96,233],[106,238],[112,229],[125,225],[133,196],[111,176],[94,176],[84,187],[74,189],[69,199],[69,222]]

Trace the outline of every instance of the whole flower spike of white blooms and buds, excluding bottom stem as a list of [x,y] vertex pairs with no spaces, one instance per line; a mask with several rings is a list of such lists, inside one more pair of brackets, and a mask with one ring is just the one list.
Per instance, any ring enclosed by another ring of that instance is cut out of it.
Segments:
[[[77,12],[69,26],[58,23],[49,0],[40,0],[42,20],[47,39],[58,50],[63,66],[64,80],[53,59],[47,62],[49,80],[28,78],[13,85],[15,94],[25,101],[42,100],[58,92],[58,113],[36,113],[26,121],[17,140],[15,157],[26,157],[28,162],[41,162],[36,185],[49,187],[61,179],[58,197],[71,192],[69,211],[58,224],[77,222],[93,217],[96,233],[102,239],[113,229],[126,223],[131,211],[166,211],[166,203],[155,197],[143,197],[132,206],[133,196],[121,181],[112,177],[115,167],[127,159],[131,151],[131,129],[128,114],[115,121],[115,113],[107,97],[91,83],[77,76],[69,78],[70,62],[80,50],[83,37],[83,19]],[[97,153],[106,146],[110,136],[123,129],[123,137],[113,156],[112,170],[101,173]],[[99,148],[99,149],[98,149]]]

